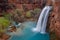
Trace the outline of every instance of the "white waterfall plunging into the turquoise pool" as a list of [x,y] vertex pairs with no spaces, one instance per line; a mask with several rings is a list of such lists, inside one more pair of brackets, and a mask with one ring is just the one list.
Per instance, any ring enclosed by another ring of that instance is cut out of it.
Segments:
[[51,6],[45,6],[39,16],[36,28],[32,30],[35,32],[46,33],[46,25],[48,20],[49,11],[52,9]]

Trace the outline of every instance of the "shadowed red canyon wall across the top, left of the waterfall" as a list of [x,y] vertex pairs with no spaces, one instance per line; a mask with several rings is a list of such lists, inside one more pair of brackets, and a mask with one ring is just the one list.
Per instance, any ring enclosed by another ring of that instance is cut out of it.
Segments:
[[44,0],[0,0],[0,12],[6,11],[9,7],[15,6],[18,9],[31,10],[34,8],[43,8]]

